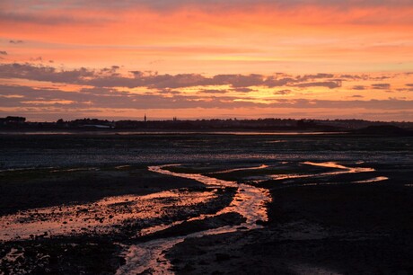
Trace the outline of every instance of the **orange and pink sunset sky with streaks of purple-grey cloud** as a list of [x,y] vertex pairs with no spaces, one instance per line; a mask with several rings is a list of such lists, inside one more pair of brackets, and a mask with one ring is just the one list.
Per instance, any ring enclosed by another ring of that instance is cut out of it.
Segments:
[[0,117],[413,121],[413,0],[2,0]]

